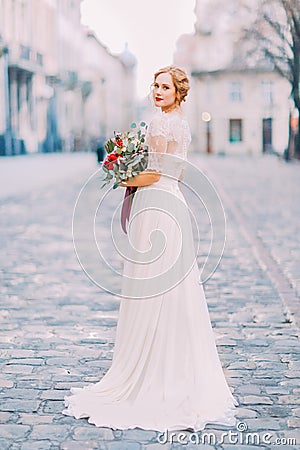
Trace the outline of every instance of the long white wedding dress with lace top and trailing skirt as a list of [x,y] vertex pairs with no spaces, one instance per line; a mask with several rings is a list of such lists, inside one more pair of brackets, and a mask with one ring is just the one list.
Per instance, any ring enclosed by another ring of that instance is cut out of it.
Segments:
[[63,413],[112,429],[235,426],[238,402],[217,353],[178,184],[190,143],[186,119],[160,112],[147,140],[148,168],[163,175],[138,188],[132,204],[112,365],[98,383],[72,388]]

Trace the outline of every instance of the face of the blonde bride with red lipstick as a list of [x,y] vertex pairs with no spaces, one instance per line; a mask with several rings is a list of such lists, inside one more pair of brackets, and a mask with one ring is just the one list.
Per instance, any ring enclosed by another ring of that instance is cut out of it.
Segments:
[[168,111],[175,106],[176,89],[169,73],[159,74],[153,84],[153,99],[155,106],[162,111]]

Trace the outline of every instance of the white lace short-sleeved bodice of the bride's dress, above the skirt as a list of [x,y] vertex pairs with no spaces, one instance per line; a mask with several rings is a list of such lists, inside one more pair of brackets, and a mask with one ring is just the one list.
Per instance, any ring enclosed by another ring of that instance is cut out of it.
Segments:
[[149,151],[147,169],[178,178],[187,160],[190,142],[189,125],[181,112],[158,112],[146,136]]

